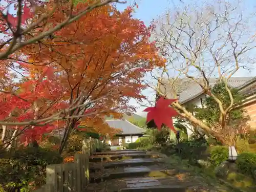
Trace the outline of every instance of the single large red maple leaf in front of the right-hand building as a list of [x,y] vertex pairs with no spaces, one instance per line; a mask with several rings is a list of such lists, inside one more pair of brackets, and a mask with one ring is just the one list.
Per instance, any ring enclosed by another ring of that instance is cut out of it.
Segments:
[[156,102],[156,106],[146,108],[144,112],[147,113],[146,122],[154,120],[157,125],[158,130],[161,130],[162,124],[165,124],[169,127],[170,130],[176,132],[173,126],[173,118],[178,115],[177,111],[171,108],[169,105],[172,104],[177,99],[165,99],[161,97]]

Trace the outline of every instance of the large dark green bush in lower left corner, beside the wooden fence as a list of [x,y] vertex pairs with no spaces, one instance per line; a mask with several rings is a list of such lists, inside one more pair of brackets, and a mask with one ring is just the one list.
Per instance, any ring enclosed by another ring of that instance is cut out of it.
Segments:
[[63,161],[56,151],[41,147],[24,147],[6,152],[0,159],[0,184],[10,190],[45,184],[46,166]]

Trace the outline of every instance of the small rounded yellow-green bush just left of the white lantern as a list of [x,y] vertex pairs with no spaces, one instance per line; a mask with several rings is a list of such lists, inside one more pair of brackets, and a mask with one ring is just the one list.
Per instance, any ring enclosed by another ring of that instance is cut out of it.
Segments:
[[226,146],[214,146],[210,149],[210,159],[215,165],[220,165],[228,159],[228,148]]

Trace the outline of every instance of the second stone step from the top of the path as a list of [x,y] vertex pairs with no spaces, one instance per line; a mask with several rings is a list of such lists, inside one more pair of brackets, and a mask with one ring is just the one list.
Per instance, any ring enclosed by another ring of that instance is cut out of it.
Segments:
[[121,160],[125,158],[159,158],[158,155],[155,154],[138,154],[138,153],[130,153],[130,154],[118,154],[118,155],[93,155],[90,156],[90,162],[105,162],[105,161],[113,161],[113,160]]

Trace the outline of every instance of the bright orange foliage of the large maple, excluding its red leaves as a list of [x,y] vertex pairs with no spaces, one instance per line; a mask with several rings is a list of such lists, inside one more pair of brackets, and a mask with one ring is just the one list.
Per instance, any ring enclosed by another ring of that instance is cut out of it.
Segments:
[[[47,20],[47,28],[67,17],[67,13],[61,11],[67,6],[62,4]],[[86,6],[79,3],[75,12]],[[50,8],[51,1],[45,11]],[[36,63],[29,69],[31,75],[36,74],[37,68],[41,68],[42,73],[45,66],[52,70],[49,74],[53,76],[45,78],[58,87],[56,91],[60,91],[67,105],[73,104],[81,94],[84,95],[82,103],[102,97],[88,106],[95,109],[93,115],[79,119],[81,124],[93,127],[102,135],[116,134],[103,121],[102,114],[133,112],[129,100],[143,97],[140,93],[145,88],[141,84],[145,73],[164,65],[150,42],[150,29],[133,18],[132,12],[132,8],[120,12],[111,5],[94,9],[22,50]],[[45,29],[38,27],[37,30]]]

